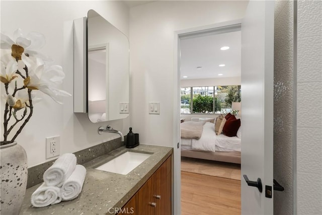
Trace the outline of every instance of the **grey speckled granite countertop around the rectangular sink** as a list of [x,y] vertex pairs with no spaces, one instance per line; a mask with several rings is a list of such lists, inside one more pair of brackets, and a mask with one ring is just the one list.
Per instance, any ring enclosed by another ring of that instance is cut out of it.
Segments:
[[[94,169],[126,151],[153,154],[127,175]],[[83,164],[87,174],[83,190],[77,198],[46,207],[33,207],[30,196],[41,185],[40,183],[26,190],[20,214],[113,214],[109,213],[109,208],[124,206],[172,153],[171,147],[142,144],[134,149],[121,147]]]

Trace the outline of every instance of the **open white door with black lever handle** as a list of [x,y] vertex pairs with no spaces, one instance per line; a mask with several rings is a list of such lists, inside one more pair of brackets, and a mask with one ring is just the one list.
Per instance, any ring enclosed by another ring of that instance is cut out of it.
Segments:
[[[273,214],[273,198],[265,197],[265,185],[273,187],[273,49],[274,1],[250,1],[241,23],[242,214]],[[260,178],[263,191],[243,175]]]

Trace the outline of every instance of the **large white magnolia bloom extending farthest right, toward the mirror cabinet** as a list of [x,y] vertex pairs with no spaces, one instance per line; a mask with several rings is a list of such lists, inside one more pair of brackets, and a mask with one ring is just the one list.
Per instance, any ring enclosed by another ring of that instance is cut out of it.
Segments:
[[62,104],[58,100],[59,96],[71,96],[66,91],[59,90],[58,87],[65,78],[62,67],[59,65],[46,66],[39,58],[22,55],[22,60],[28,67],[29,77],[24,80],[24,84],[28,89],[40,90],[50,96],[58,104]]

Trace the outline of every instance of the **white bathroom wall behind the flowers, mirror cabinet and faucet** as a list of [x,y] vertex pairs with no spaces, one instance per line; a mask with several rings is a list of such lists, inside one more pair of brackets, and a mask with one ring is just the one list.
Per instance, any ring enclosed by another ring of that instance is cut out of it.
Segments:
[[[63,66],[66,75],[63,90],[72,94],[73,56],[70,21],[87,16],[90,9],[94,9],[127,36],[129,35],[129,10],[119,1],[1,1],[1,31],[12,34],[17,28],[21,28],[26,33],[36,31],[44,34],[46,45],[42,52],[50,56],[55,64]],[[26,149],[29,167],[47,161],[46,137],[61,136],[62,154],[76,152],[119,137],[118,134],[110,133],[99,135],[97,133],[99,126],[110,124],[124,134],[128,132],[129,118],[94,124],[89,121],[86,114],[73,113],[72,97],[64,99],[63,105],[56,104],[47,96],[42,98],[41,102],[34,104],[34,114],[17,138],[18,143]]]

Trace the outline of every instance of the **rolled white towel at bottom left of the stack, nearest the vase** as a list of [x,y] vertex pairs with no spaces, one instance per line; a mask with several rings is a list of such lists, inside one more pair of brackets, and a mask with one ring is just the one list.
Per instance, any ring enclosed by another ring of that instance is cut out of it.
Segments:
[[60,188],[46,186],[42,183],[31,195],[31,204],[34,207],[45,207],[50,204],[57,204],[61,201]]

